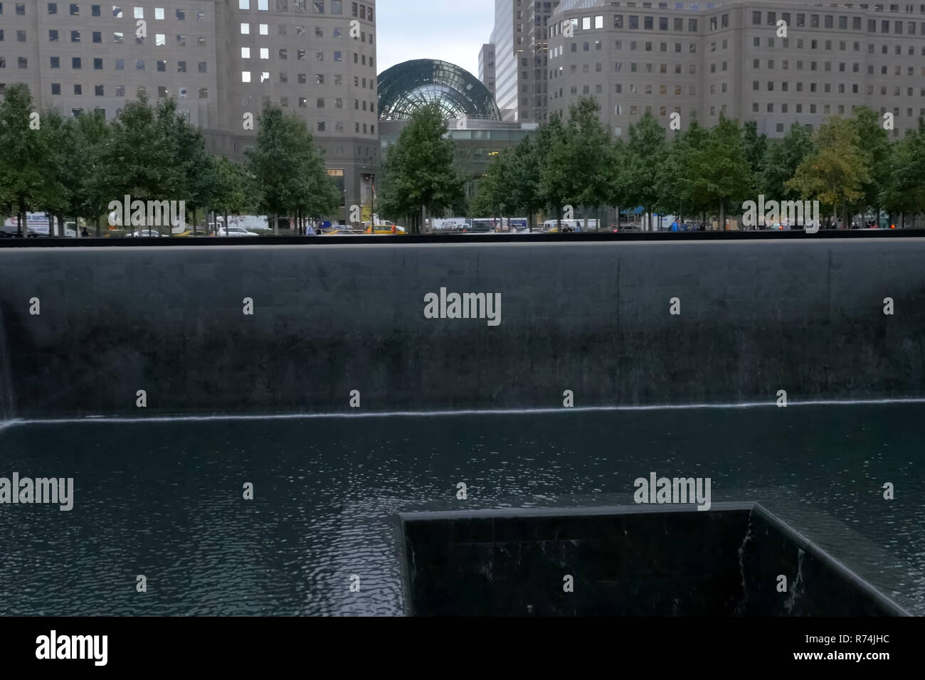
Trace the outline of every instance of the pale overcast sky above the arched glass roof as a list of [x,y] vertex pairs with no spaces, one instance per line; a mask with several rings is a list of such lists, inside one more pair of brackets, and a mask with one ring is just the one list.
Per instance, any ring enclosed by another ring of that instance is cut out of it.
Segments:
[[442,59],[478,78],[495,0],[379,0],[376,10],[376,71],[409,59]]

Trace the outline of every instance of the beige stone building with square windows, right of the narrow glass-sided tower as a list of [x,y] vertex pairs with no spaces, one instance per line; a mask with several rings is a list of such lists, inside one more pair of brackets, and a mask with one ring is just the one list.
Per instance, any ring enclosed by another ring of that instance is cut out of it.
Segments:
[[892,114],[894,137],[925,115],[925,4],[563,0],[552,19],[549,110],[594,96],[618,137],[646,111],[771,137],[857,105]]

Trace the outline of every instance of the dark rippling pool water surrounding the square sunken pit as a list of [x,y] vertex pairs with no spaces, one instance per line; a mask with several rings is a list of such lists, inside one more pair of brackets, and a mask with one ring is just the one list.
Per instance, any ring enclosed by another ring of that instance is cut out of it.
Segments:
[[713,502],[765,502],[923,614],[923,415],[895,404],[10,427],[0,476],[73,476],[75,505],[0,505],[0,612],[398,614],[394,513],[625,504],[654,471],[709,476]]

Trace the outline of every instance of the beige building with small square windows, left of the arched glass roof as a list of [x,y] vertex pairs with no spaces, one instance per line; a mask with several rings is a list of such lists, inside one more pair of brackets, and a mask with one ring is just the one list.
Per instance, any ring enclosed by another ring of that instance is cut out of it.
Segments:
[[37,109],[107,118],[138,93],[175,97],[210,150],[236,160],[256,136],[244,117],[279,105],[308,123],[344,205],[367,204],[375,36],[375,0],[4,1],[0,93],[25,82]]

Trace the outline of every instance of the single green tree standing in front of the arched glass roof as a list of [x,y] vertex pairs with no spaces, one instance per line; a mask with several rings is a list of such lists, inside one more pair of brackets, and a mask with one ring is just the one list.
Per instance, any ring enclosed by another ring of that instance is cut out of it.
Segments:
[[453,164],[446,132],[439,105],[426,105],[388,148],[379,206],[390,215],[411,217],[412,233],[420,233],[425,209],[439,214],[464,198],[466,178]]

